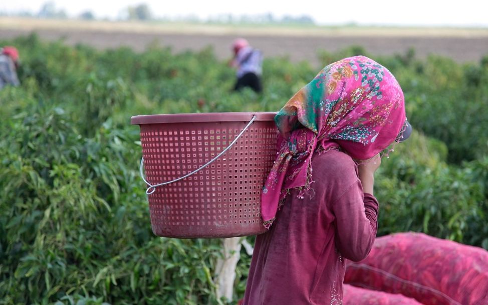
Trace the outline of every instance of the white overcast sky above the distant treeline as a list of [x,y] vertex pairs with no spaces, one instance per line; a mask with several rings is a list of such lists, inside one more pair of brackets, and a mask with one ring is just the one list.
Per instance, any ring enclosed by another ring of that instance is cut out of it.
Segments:
[[[128,6],[146,3],[156,17],[195,15],[201,19],[218,14],[272,13],[309,15],[319,24],[357,23],[360,25],[424,25],[424,26],[481,26],[488,27],[486,0],[349,0],[349,1],[264,1],[264,0],[83,0],[54,1],[57,9],[69,16],[90,10],[98,18],[117,18]],[[39,12],[46,0],[2,1],[0,12]]]

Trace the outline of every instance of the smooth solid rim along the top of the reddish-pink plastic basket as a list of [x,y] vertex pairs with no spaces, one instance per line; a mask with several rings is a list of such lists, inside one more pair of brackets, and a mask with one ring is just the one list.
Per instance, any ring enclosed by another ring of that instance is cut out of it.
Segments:
[[206,112],[135,115],[130,118],[133,125],[160,123],[195,123],[195,122],[249,122],[253,115],[256,121],[274,121],[276,112]]

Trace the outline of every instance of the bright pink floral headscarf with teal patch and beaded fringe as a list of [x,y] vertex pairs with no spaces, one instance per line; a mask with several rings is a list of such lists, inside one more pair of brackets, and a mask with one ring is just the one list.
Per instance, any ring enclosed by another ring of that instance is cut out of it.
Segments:
[[277,113],[277,160],[261,195],[269,228],[289,189],[299,198],[310,188],[316,150],[340,146],[354,159],[366,160],[387,148],[405,121],[404,97],[395,77],[365,56],[328,65]]

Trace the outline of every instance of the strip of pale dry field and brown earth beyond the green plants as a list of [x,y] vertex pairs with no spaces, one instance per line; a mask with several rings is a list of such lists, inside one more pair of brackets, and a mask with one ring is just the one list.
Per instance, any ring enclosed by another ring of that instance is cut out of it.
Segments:
[[405,53],[413,48],[419,58],[437,54],[458,62],[479,61],[488,50],[487,29],[358,28],[310,26],[223,26],[158,23],[109,23],[0,18],[0,39],[33,30],[42,39],[63,39],[69,45],[88,44],[98,49],[128,46],[143,51],[157,43],[175,52],[199,51],[212,46],[219,59],[228,58],[233,39],[243,36],[267,57],[288,56],[319,65],[318,50],[337,52],[351,45],[376,55]]

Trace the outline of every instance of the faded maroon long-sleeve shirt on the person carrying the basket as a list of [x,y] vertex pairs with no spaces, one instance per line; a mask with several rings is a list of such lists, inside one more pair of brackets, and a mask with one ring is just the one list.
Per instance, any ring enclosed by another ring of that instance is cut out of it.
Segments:
[[312,158],[312,190],[288,195],[268,233],[257,236],[244,305],[342,304],[345,261],[364,259],[376,237],[378,202],[357,166],[330,150]]

